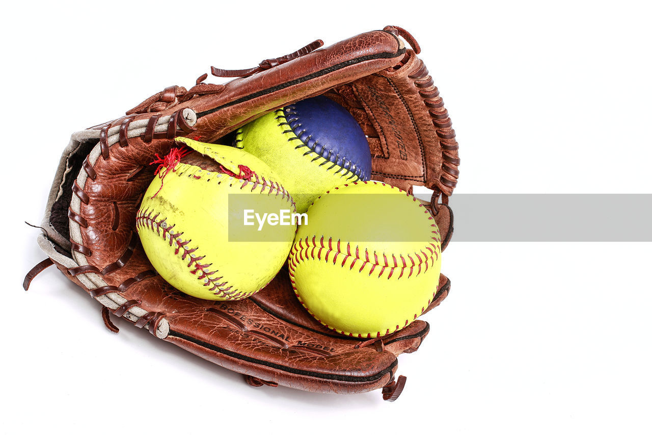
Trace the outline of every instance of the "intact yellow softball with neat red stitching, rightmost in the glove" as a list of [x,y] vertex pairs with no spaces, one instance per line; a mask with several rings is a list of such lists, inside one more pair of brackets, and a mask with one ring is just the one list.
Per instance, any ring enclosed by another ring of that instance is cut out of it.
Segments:
[[426,207],[381,182],[321,195],[290,251],[290,280],[304,307],[349,336],[402,329],[437,293],[439,229]]

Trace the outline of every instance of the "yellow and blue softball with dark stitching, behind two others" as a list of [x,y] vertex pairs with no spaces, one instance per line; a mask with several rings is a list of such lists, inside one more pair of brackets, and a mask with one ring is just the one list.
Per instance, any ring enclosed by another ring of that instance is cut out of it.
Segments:
[[301,213],[325,191],[371,176],[371,153],[363,129],[344,107],[323,95],[244,125],[234,143],[285,180]]

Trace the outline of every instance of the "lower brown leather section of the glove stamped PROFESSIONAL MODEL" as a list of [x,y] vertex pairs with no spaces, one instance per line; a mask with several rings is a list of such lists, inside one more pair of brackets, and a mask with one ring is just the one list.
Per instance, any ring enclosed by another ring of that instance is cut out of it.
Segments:
[[[121,283],[150,269],[138,246],[128,266],[104,278]],[[447,294],[443,275],[440,288],[428,309]],[[257,295],[239,301],[188,297],[160,276],[135,283],[122,295],[141,300],[148,312],[166,314],[167,341],[230,370],[307,391],[362,393],[383,387],[396,371],[396,356],[418,349],[429,331],[428,323],[417,320],[383,338],[384,349],[356,349],[362,340],[323,327],[297,305],[285,269]]]

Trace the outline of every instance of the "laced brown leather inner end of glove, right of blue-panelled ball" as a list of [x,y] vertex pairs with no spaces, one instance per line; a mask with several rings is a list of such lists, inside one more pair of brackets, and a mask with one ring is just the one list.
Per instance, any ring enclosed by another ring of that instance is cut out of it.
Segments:
[[374,180],[452,194],[460,163],[454,130],[415,52],[407,50],[398,69],[369,74],[327,95],[346,106],[368,136]]

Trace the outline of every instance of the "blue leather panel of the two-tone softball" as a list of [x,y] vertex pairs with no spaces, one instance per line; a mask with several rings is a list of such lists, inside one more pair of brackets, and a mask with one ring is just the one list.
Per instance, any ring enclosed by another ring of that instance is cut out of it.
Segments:
[[363,130],[346,109],[319,95],[286,106],[294,134],[310,150],[348,169],[363,181],[371,176],[371,153]]

